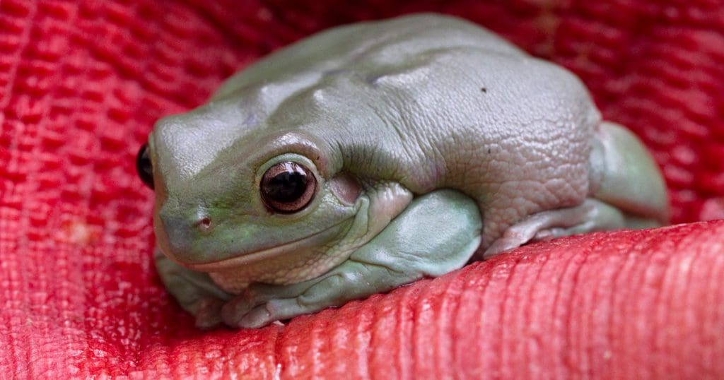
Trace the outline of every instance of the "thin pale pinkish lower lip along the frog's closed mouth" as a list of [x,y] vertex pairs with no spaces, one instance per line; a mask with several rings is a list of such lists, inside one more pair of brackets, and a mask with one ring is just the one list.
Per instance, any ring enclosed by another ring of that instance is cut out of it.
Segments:
[[300,250],[308,250],[314,247],[322,247],[329,245],[329,242],[334,240],[336,237],[345,232],[350,227],[352,219],[345,219],[340,223],[334,224],[332,227],[323,229],[320,232],[316,232],[308,237],[303,237],[299,240],[293,240],[283,245],[277,245],[276,247],[265,248],[263,250],[256,250],[249,253],[243,253],[239,256],[232,258],[224,258],[223,260],[214,261],[211,263],[195,263],[195,264],[184,264],[188,269],[194,271],[205,271],[205,272],[216,272],[223,271],[224,269],[237,268],[239,266],[249,265],[252,263],[258,263],[259,261],[266,261],[271,258],[278,256],[284,256],[287,254],[294,254]]

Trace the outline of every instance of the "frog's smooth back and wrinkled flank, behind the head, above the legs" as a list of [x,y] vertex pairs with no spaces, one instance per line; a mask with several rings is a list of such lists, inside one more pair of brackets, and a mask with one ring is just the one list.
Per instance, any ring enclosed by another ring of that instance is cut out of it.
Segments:
[[451,187],[511,223],[581,203],[600,117],[580,80],[454,17],[329,30],[272,54],[212,100],[255,98],[269,130],[339,147],[345,170],[413,193]]

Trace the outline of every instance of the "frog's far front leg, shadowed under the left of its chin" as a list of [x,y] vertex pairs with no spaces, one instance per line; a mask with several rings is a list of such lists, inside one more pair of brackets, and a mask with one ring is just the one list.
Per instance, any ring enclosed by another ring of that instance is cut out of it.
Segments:
[[166,289],[185,311],[195,316],[196,326],[203,329],[221,323],[221,308],[232,295],[219,289],[209,274],[174,263],[159,248],[153,252],[153,261]]

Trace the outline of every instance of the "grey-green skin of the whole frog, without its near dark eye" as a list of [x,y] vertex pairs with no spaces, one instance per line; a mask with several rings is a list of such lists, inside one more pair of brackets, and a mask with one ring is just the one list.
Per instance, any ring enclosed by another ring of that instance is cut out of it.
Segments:
[[[571,72],[454,17],[313,35],[148,140],[156,266],[198,326],[256,327],[527,242],[668,220],[657,166]],[[316,178],[280,214],[261,177]]]

